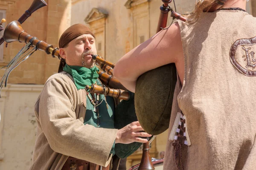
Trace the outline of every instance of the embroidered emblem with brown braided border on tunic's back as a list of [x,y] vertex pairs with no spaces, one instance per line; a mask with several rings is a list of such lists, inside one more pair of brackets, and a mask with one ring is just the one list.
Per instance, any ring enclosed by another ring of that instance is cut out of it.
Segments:
[[230,62],[244,75],[256,76],[256,37],[240,39],[230,48]]

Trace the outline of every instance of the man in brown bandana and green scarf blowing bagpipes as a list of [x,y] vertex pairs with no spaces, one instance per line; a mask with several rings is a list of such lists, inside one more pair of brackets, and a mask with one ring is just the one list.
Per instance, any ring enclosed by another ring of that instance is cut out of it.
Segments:
[[116,169],[115,144],[145,143],[141,137],[151,136],[140,132],[139,122],[114,129],[113,98],[84,89],[102,85],[92,59],[95,41],[82,24],[61,35],[59,73],[49,77],[35,104],[38,128],[30,170]]

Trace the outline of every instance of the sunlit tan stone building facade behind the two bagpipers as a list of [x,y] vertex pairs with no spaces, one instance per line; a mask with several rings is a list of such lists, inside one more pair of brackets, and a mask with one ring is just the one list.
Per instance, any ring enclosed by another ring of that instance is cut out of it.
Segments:
[[[83,23],[96,35],[98,54],[116,62],[125,53],[156,32],[161,0],[45,0],[48,6],[35,11],[22,28],[30,35],[58,47],[58,39],[70,25]],[[6,26],[26,11],[33,0],[0,0],[0,19]],[[188,14],[195,0],[175,2],[177,12]],[[173,6],[173,3],[170,4]],[[247,11],[256,16],[256,0],[247,3]],[[169,18],[169,22],[170,22]],[[168,24],[169,24],[168,22]],[[0,32],[0,36],[3,31]],[[12,42],[0,46],[0,68],[7,65],[24,46]],[[35,144],[34,104],[45,81],[57,73],[59,60],[36,51],[9,76],[0,98],[0,170],[25,170],[31,164]],[[0,77],[4,73],[0,69]],[[165,150],[167,132],[151,143],[151,157]],[[128,157],[127,167],[137,164],[141,150]]]

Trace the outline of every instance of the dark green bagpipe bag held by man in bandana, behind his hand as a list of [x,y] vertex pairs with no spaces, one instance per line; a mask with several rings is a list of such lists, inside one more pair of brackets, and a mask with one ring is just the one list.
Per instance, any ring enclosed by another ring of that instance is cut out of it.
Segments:
[[[130,99],[122,100],[114,111],[115,129],[122,129],[131,122],[137,121],[134,107],[134,93],[130,92]],[[133,142],[131,144],[115,144],[115,154],[124,159],[134,153],[142,143]]]

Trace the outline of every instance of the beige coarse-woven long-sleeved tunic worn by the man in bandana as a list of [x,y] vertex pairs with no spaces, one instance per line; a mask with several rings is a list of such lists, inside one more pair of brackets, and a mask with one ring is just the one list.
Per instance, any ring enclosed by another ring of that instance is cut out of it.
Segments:
[[84,125],[86,91],[66,72],[47,80],[35,104],[36,143],[30,170],[61,170],[68,156],[107,166],[116,129]]

